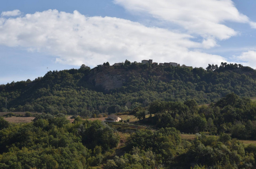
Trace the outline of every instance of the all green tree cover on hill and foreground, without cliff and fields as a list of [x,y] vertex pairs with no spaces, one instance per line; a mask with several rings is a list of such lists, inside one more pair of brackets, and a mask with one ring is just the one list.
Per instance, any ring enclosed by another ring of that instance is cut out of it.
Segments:
[[[95,85],[93,76],[111,71],[126,72],[122,87],[106,91]],[[247,98],[256,96],[255,78],[255,70],[237,64],[209,64],[205,70],[126,60],[0,85],[1,111],[44,112],[29,124],[0,117],[0,168],[253,169],[256,146],[237,139],[256,139],[256,103]],[[203,103],[209,104],[198,106]],[[79,116],[69,123],[65,116],[105,112],[134,114],[153,130],[128,134],[118,147],[118,128]],[[182,140],[180,132],[197,136]]]

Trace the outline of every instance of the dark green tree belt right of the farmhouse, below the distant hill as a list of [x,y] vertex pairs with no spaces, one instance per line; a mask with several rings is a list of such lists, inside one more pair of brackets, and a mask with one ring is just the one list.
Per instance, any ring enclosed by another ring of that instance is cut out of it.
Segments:
[[[143,111],[136,110],[136,116]],[[230,133],[239,139],[256,139],[256,103],[249,98],[227,94],[215,104],[198,106],[195,100],[186,102],[154,101],[148,107],[154,114],[145,123],[156,127],[175,127],[184,133],[209,132],[212,135]],[[144,115],[145,116],[145,115]]]

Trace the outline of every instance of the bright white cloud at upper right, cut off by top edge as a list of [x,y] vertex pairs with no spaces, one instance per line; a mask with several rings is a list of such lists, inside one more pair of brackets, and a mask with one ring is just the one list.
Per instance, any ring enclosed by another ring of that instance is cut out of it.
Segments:
[[[237,35],[225,22],[256,23],[239,13],[232,0],[114,0],[116,4],[135,13],[146,13],[154,18],[178,24],[189,33],[197,34],[210,42]],[[208,40],[210,39],[210,40]],[[208,47],[208,46],[206,46]]]

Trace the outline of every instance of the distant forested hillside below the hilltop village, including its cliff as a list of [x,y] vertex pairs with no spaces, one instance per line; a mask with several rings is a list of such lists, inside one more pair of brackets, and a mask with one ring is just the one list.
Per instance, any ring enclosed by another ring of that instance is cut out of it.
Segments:
[[[228,93],[256,96],[256,71],[237,64],[163,67],[126,62],[121,66],[49,71],[35,80],[0,85],[1,111],[35,111],[91,116],[147,107],[154,100],[198,104]],[[7,98],[7,110],[6,110]]]

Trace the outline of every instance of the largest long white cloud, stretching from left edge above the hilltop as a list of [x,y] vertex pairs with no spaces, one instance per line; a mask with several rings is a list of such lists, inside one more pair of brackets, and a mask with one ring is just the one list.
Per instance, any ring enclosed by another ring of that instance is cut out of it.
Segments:
[[48,10],[0,20],[0,45],[50,54],[63,64],[95,66],[150,58],[197,67],[226,62],[221,56],[192,51],[215,45],[212,40],[200,44],[192,38],[120,18],[87,17],[78,11]]

